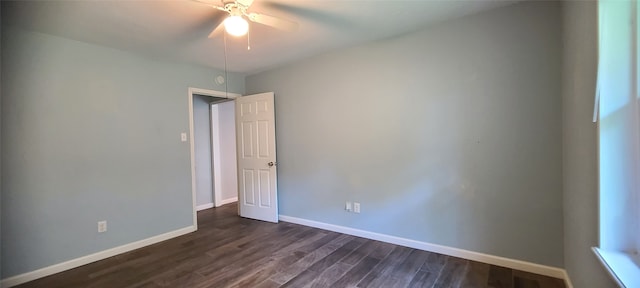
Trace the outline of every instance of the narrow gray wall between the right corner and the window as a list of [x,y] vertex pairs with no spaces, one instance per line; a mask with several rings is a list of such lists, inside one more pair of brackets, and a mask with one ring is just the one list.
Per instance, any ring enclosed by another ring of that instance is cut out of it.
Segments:
[[597,125],[592,123],[598,3],[563,2],[564,258],[574,287],[615,287],[591,247],[598,245]]

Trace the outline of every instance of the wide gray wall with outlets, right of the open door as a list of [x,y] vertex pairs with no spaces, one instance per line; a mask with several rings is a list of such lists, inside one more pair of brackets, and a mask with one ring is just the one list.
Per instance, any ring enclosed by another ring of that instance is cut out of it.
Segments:
[[562,267],[560,12],[517,4],[247,77],[276,94],[281,214]]

